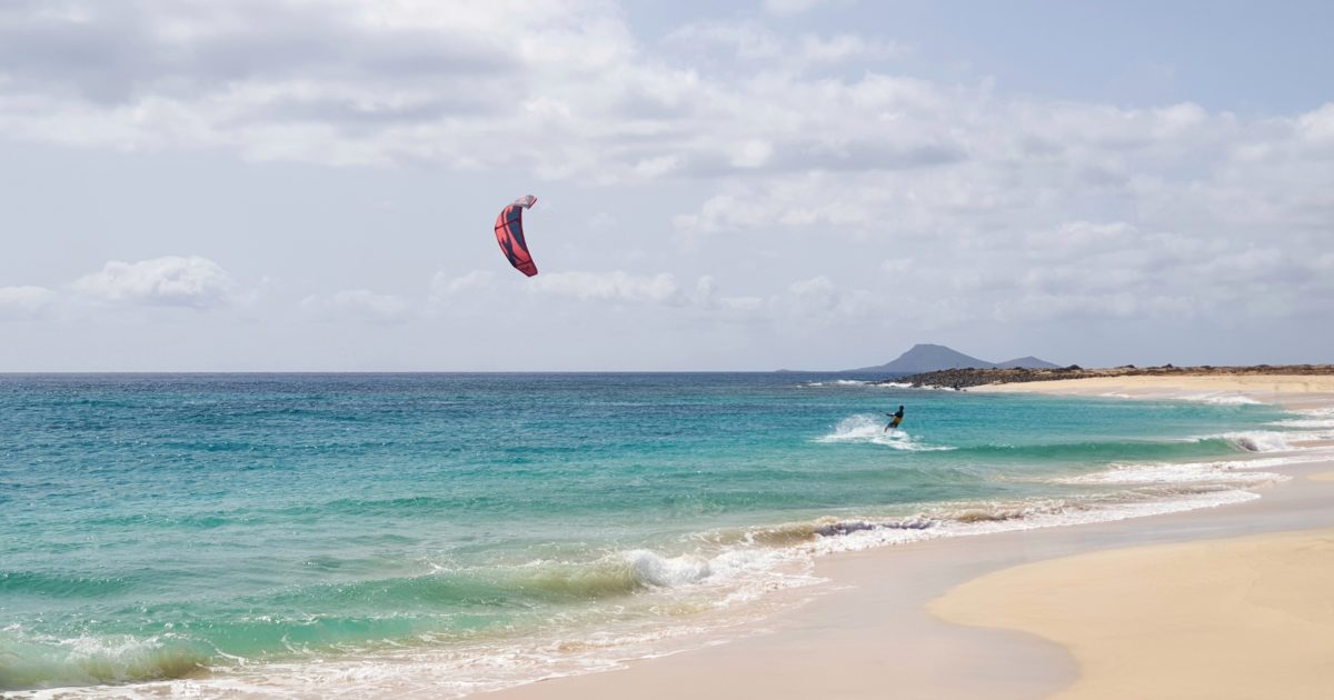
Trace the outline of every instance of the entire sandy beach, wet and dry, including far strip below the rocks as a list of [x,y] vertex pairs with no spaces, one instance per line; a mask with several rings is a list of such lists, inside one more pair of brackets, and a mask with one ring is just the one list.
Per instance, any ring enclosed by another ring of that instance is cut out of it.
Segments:
[[[1334,404],[1331,377],[1150,379],[994,391]],[[832,583],[758,625],[486,697],[1326,697],[1334,452],[1303,447],[1331,459],[1258,500],[826,557]]]

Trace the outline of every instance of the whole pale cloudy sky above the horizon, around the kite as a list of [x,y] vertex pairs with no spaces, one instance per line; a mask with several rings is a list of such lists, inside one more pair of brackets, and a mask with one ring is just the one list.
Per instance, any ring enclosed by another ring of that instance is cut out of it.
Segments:
[[1331,25],[4,0],[0,371],[1334,363]]

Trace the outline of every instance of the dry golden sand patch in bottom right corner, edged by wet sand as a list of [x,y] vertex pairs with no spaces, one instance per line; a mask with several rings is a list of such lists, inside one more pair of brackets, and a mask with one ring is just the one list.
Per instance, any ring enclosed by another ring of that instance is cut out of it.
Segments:
[[1058,697],[1334,696],[1334,529],[1098,552],[983,576],[931,604],[1071,649]]

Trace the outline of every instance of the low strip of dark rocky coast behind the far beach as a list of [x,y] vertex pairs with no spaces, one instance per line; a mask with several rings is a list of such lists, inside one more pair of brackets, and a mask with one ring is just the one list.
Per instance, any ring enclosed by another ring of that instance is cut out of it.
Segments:
[[922,372],[907,377],[886,380],[884,383],[908,383],[920,388],[966,389],[987,384],[1013,384],[1017,381],[1055,381],[1062,379],[1122,377],[1122,376],[1231,376],[1231,375],[1334,375],[1334,364],[1258,364],[1250,367],[1135,367],[1085,369],[1079,365],[1055,369],[1029,368],[959,368]]

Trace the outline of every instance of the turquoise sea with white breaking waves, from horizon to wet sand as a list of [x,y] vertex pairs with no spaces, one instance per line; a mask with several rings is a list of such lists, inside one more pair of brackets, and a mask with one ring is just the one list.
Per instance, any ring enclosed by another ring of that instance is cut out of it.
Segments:
[[652,639],[827,551],[1226,503],[1265,475],[1218,461],[1293,419],[798,373],[0,376],[0,691]]

